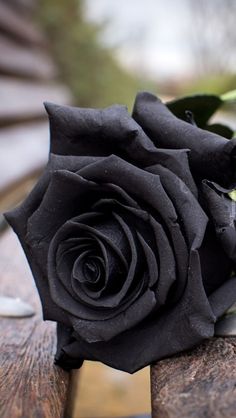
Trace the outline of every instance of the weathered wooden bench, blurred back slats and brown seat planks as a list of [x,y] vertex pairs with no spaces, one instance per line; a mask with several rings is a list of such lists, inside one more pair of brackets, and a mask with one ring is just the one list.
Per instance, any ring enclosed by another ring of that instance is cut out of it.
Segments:
[[[32,187],[48,153],[42,102],[66,103],[33,0],[0,0],[0,210]],[[43,322],[25,256],[0,218],[0,294],[34,306],[32,318],[0,318],[0,417],[71,417],[77,373],[54,366],[55,324]],[[236,340],[217,338],[151,367],[153,418],[235,418]],[[104,398],[106,394],[104,393]]]

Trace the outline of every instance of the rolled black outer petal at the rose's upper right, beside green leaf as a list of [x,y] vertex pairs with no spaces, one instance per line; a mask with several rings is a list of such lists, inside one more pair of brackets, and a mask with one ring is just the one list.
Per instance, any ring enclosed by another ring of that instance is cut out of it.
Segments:
[[190,167],[197,178],[222,185],[234,181],[236,140],[229,141],[176,118],[149,93],[137,95],[133,117],[156,146],[189,148]]

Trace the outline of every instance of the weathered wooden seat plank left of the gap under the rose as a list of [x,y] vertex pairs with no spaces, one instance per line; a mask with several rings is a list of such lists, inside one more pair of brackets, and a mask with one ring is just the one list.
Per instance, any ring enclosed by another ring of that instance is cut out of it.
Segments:
[[0,293],[30,302],[37,312],[0,318],[0,417],[63,417],[69,377],[53,365],[55,324],[42,321],[31,273],[10,230],[0,238]]

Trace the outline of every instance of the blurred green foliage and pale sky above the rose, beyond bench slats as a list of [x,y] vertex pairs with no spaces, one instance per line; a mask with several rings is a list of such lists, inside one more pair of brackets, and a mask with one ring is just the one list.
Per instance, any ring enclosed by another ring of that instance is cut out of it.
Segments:
[[[235,0],[41,2],[61,79],[81,106],[236,87]],[[55,10],[56,9],[56,10]]]

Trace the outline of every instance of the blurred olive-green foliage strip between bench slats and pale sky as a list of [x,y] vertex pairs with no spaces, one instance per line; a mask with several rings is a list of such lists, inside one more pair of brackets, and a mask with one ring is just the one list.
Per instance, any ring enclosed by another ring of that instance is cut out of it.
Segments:
[[114,51],[101,45],[102,26],[85,21],[81,0],[42,0],[39,19],[75,105],[131,107],[138,90],[153,90],[153,83],[125,71]]

